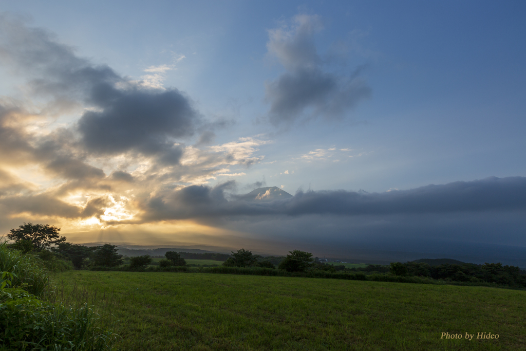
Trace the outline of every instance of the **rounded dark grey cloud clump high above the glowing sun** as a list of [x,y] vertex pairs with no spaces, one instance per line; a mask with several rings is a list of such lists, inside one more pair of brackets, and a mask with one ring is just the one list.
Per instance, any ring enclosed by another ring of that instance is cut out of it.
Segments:
[[160,155],[160,161],[177,164],[182,151],[174,145],[174,139],[193,135],[197,119],[189,100],[176,89],[103,89],[110,93],[101,93],[104,98],[94,99],[103,111],[88,111],[78,122],[82,143],[99,154],[135,150],[144,155]]

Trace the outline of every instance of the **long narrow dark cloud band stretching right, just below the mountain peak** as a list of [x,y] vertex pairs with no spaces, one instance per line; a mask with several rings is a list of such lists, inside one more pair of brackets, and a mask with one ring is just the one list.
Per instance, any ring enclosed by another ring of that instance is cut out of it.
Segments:
[[526,210],[526,178],[490,177],[472,182],[428,185],[385,193],[302,192],[272,202],[228,201],[225,189],[190,186],[151,198],[143,208],[148,217],[179,219],[219,216],[301,216],[331,214],[383,216]]

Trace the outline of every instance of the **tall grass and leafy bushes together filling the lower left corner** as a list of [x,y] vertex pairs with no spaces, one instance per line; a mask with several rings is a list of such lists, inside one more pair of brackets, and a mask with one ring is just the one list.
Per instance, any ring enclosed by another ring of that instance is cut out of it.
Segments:
[[117,336],[87,304],[52,303],[43,261],[0,243],[0,350],[110,350]]

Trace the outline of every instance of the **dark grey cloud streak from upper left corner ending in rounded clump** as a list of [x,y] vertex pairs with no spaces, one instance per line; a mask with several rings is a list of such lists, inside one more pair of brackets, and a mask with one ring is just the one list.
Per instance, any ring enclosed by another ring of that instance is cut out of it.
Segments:
[[33,94],[52,98],[50,108],[91,107],[74,131],[87,151],[131,151],[155,155],[161,164],[179,162],[175,139],[193,135],[200,124],[187,96],[175,88],[149,88],[77,57],[42,29],[7,16],[0,23],[0,61],[27,75]]

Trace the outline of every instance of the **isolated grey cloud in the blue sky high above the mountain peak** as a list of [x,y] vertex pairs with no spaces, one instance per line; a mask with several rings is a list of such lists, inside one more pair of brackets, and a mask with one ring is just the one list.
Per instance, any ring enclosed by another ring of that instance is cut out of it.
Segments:
[[269,121],[275,126],[290,125],[301,117],[341,117],[370,95],[360,78],[365,66],[347,75],[326,71],[314,43],[321,29],[319,16],[297,15],[290,25],[268,31],[268,54],[287,71],[265,83]]

